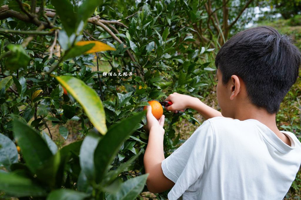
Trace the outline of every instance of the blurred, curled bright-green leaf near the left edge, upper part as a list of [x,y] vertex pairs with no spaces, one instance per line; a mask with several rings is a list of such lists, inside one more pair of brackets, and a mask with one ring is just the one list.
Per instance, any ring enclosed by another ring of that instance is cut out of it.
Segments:
[[6,66],[8,69],[17,70],[26,67],[30,57],[21,45],[8,44],[6,46],[11,50],[11,54],[6,58]]

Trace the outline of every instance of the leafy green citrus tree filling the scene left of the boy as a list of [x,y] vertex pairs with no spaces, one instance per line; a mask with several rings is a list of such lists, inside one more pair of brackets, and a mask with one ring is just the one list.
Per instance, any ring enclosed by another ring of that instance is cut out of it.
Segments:
[[[214,49],[193,43],[203,2],[0,4],[2,198],[135,199],[147,191],[143,106],[174,91],[202,98],[213,79]],[[165,115],[168,156],[183,142],[172,124],[198,121],[189,109]],[[54,129],[81,137],[57,146]]]

